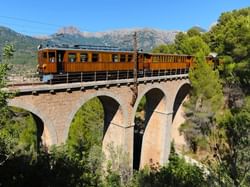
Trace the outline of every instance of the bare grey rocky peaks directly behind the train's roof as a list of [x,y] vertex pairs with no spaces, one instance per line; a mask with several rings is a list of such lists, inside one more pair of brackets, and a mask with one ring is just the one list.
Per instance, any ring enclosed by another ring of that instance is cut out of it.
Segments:
[[137,33],[138,48],[150,51],[153,47],[172,43],[178,31],[162,31],[156,29],[120,29],[107,32],[81,32],[76,27],[64,27],[51,36],[54,43],[83,45],[104,45],[121,48],[133,47],[133,34]]

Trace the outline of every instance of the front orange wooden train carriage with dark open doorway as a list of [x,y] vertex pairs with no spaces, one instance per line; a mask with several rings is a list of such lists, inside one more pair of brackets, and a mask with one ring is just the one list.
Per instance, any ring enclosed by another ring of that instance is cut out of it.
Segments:
[[44,48],[38,51],[43,74],[133,70],[133,52]]

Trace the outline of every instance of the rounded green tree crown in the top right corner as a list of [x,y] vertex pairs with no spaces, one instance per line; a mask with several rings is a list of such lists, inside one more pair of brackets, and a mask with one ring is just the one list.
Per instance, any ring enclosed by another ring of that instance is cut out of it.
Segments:
[[250,59],[250,8],[223,13],[207,33],[212,51],[236,63]]

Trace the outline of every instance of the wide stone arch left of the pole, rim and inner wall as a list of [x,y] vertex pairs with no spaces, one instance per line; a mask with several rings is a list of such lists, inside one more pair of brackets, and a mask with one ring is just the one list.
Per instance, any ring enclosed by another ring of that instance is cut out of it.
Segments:
[[124,130],[127,128],[128,113],[125,110],[123,100],[118,96],[113,94],[111,91],[96,91],[94,94],[89,93],[83,95],[78,104],[72,109],[68,121],[65,127],[64,137],[66,140],[69,133],[70,124],[77,113],[77,111],[89,100],[98,97],[102,103],[104,110],[104,137],[103,137],[103,149],[105,149],[108,144],[114,143],[114,145],[122,145],[125,141]]

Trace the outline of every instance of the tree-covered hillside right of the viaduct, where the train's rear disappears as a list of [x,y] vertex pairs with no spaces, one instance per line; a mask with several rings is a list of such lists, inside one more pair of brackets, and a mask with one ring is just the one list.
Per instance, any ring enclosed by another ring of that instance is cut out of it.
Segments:
[[[207,33],[190,29],[178,34],[175,44],[155,49],[197,57],[189,74],[187,120],[180,130],[195,157],[212,169],[221,186],[250,185],[249,25],[250,8],[226,12]],[[223,62],[220,72],[204,63],[209,51]]]

